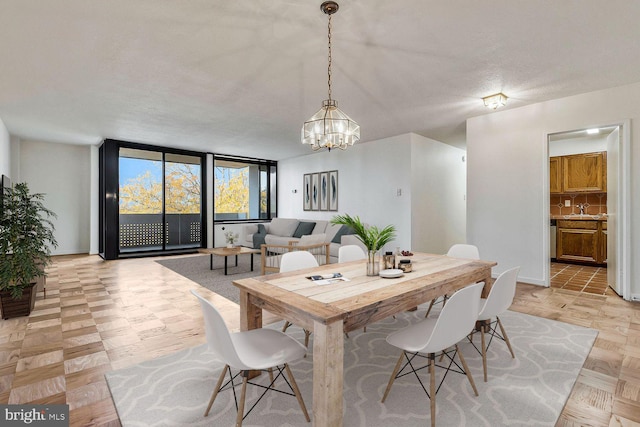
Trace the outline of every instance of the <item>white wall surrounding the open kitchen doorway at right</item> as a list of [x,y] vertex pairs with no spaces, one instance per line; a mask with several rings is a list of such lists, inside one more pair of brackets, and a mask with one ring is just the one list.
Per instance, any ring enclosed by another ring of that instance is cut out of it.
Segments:
[[[467,237],[496,271],[520,265],[519,280],[543,284],[543,189],[547,134],[631,119],[631,146],[640,143],[640,83],[576,95],[467,120]],[[640,150],[631,150],[631,194],[640,182]],[[631,200],[631,212],[640,198]],[[638,259],[640,215],[631,216],[632,260]],[[631,264],[631,293],[640,297],[640,264]]]

